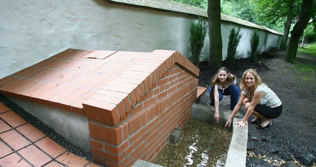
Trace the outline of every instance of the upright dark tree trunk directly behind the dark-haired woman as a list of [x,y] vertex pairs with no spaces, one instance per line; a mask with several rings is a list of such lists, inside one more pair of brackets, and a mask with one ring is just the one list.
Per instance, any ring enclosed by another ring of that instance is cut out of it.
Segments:
[[209,66],[222,66],[221,1],[208,0]]

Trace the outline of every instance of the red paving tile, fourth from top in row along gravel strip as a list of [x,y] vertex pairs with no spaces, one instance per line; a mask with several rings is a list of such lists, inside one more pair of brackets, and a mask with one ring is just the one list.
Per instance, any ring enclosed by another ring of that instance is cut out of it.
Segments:
[[42,138],[42,140],[36,142],[35,145],[53,158],[58,157],[66,151],[65,148],[61,147],[59,144],[51,140],[49,137]]

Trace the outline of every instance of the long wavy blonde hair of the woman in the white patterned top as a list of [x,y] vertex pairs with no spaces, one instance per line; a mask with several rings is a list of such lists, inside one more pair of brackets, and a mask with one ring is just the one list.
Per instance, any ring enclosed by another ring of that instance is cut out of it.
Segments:
[[[253,74],[254,79],[255,79],[254,85],[253,85],[252,89],[249,89],[249,87],[246,85],[246,82],[245,82],[245,77],[246,77],[246,75],[247,75],[248,72],[251,73],[251,74]],[[241,89],[242,91],[248,91],[248,92],[249,92],[249,95],[252,96],[253,93],[254,93],[254,90],[255,90],[259,85],[266,85],[266,84],[262,83],[261,77],[258,75],[258,73],[257,73],[256,70],[254,70],[254,69],[248,69],[248,70],[246,70],[246,71],[244,72],[243,77],[242,77],[242,79],[241,79],[241,81],[240,81],[239,87],[240,87],[240,89]],[[267,86],[267,85],[266,85],[266,86]]]

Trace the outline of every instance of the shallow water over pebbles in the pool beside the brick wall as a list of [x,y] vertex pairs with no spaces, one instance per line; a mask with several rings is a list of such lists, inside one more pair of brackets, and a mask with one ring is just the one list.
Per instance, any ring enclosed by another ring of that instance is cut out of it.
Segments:
[[163,166],[225,166],[231,132],[222,125],[189,119],[176,144],[169,144],[153,161]]

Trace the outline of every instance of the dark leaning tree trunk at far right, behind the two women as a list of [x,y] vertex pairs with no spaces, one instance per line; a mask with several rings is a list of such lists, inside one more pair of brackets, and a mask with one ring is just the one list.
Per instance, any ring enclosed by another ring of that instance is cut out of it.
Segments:
[[300,36],[303,34],[304,29],[307,26],[315,8],[313,8],[313,0],[303,0],[302,11],[299,21],[294,25],[291,31],[291,38],[287,45],[284,61],[293,63],[293,59],[296,56],[297,48],[300,42]]

